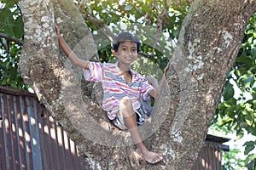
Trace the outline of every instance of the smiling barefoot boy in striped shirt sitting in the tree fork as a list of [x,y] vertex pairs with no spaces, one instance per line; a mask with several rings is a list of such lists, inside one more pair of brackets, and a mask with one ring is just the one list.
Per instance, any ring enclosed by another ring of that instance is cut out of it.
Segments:
[[[137,149],[145,161],[149,163],[161,161],[162,156],[145,147],[137,127],[137,124],[143,123],[143,116],[150,114],[150,111],[147,113],[147,109],[143,108],[142,104],[148,104],[150,97],[155,99],[160,90],[160,87],[154,90],[145,77],[131,70],[131,63],[137,59],[139,52],[138,37],[130,32],[121,32],[113,40],[113,55],[118,62],[103,64],[79,59],[61,37],[57,26],[55,26],[55,31],[61,48],[73,65],[84,68],[85,80],[102,82],[104,94],[102,108],[108,112],[108,118],[120,129],[128,129],[132,141],[137,145]],[[161,82],[164,79],[165,74]]]

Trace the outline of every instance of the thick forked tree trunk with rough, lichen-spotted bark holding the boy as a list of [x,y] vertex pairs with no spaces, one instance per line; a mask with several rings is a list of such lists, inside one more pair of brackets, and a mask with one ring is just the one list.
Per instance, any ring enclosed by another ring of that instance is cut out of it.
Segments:
[[191,5],[160,99],[150,122],[139,127],[148,148],[164,153],[163,161],[149,165],[137,156],[129,133],[113,127],[90,98],[93,87],[83,88],[82,70],[60,53],[54,23],[81,58],[96,59],[94,41],[72,1],[22,0],[20,7],[22,77],[79,145],[91,169],[190,169],[256,11],[253,0],[195,0]]

